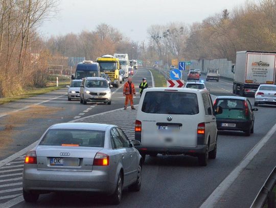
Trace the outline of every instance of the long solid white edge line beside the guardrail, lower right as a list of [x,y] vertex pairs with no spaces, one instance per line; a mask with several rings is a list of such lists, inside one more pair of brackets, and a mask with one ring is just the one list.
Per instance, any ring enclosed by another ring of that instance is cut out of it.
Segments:
[[265,136],[256,144],[248,154],[241,160],[240,164],[219,184],[215,191],[201,204],[200,208],[214,207],[227,189],[237,179],[241,172],[246,168],[254,156],[267,143],[269,138],[276,132],[276,124],[265,134]]

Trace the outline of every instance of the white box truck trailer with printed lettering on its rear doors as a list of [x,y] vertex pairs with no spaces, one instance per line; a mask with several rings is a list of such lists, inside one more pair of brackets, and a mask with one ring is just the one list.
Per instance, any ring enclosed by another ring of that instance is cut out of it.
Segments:
[[275,84],[276,52],[239,51],[236,54],[233,93],[254,95],[260,84]]

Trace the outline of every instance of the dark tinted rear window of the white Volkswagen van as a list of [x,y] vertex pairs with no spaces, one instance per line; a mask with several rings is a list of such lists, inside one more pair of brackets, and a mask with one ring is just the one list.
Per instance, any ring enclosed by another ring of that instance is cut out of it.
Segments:
[[149,91],[146,93],[142,111],[158,114],[197,114],[198,102],[195,93]]

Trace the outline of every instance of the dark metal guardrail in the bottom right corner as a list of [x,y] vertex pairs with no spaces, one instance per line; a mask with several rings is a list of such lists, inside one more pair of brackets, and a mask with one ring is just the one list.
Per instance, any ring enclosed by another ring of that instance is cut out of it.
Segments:
[[272,191],[276,186],[276,167],[270,173],[266,179],[263,187],[259,191],[254,202],[251,204],[250,208],[263,207],[267,203],[268,208],[276,207],[275,204],[275,193]]

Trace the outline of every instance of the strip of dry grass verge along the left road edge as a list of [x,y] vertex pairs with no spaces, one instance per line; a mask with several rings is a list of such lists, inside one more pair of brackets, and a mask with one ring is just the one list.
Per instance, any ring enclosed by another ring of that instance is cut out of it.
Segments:
[[26,89],[25,93],[11,96],[11,97],[6,97],[6,98],[0,98],[0,104],[9,103],[9,102],[13,102],[24,98],[30,98],[44,93],[49,93],[50,91],[63,88],[69,84],[70,84],[70,80],[60,81],[58,87],[56,86],[56,82],[50,82],[47,87],[43,87],[43,88],[32,87],[32,88]]

